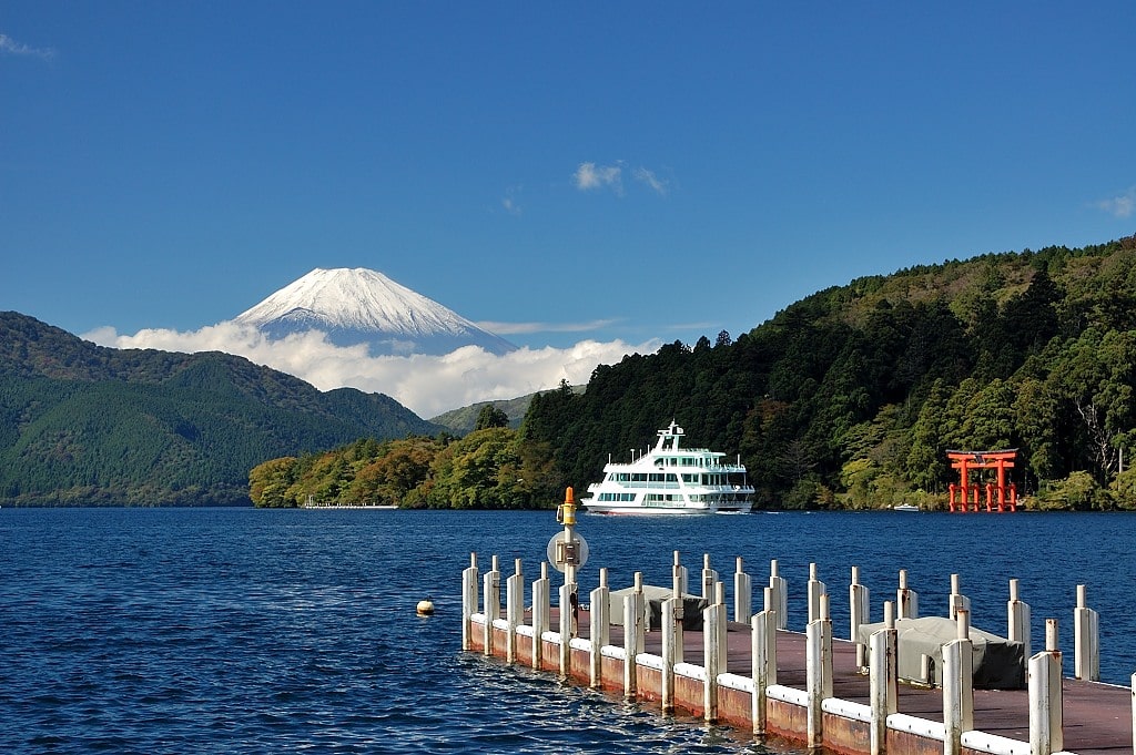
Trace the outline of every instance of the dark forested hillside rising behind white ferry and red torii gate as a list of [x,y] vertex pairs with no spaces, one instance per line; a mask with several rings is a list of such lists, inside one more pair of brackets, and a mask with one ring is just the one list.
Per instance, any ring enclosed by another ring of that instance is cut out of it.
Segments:
[[1136,237],[853,280],[732,341],[536,397],[527,443],[583,486],[675,419],[740,452],[762,506],[942,505],[949,448],[1019,448],[1038,507],[1136,507]]

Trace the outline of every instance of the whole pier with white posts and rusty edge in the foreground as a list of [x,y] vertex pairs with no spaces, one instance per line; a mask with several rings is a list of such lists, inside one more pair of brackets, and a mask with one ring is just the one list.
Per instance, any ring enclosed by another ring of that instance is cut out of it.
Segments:
[[[571,542],[570,531],[567,540]],[[557,603],[563,611],[551,605],[548,565],[542,564],[526,599],[519,562],[513,574],[502,579],[495,556],[482,573],[474,554],[462,577],[462,648],[658,704],[662,713],[730,725],[752,732],[759,741],[849,755],[1134,752],[1136,697],[1127,687],[1093,681],[1100,676],[1096,614],[1084,604],[1083,588],[1074,611],[1079,678],[1061,676],[1053,620],[1046,624],[1046,648],[1029,654],[1029,611],[1011,581],[1009,635],[1024,641],[1022,679],[1028,685],[976,689],[971,683],[976,635],[969,626],[969,601],[957,589],[952,589],[950,621],[958,626],[958,635],[942,647],[942,683],[936,686],[929,674],[901,678],[895,627],[918,615],[918,596],[902,572],[896,601],[885,603],[883,627],[863,641],[858,629],[867,624],[867,590],[858,585],[854,568],[844,593],[851,627],[841,632],[847,631],[849,639],[837,639],[828,612],[828,602],[837,598],[817,579],[815,568],[799,597],[809,605],[802,634],[784,626],[788,590],[776,561],[770,563],[769,586],[761,588],[763,610],[751,614],[751,579],[737,560],[734,621],[727,620],[724,584],[710,569],[709,557],[703,561],[701,589],[692,595],[687,570],[676,553],[673,589],[663,590],[669,593],[667,599],[659,599],[661,588],[643,586],[638,574],[635,585],[612,599],[601,569],[600,587],[580,605],[575,599],[574,570],[568,569],[566,578],[571,581],[559,588]]]

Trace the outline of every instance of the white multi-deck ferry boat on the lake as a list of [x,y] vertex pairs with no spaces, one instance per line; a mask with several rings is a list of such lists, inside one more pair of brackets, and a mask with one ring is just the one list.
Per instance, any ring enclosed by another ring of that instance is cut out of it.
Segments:
[[580,505],[600,514],[749,513],[753,486],[741,460],[732,464],[718,451],[679,447],[682,437],[671,421],[651,451],[633,454],[630,463],[609,461],[603,481],[587,486]]

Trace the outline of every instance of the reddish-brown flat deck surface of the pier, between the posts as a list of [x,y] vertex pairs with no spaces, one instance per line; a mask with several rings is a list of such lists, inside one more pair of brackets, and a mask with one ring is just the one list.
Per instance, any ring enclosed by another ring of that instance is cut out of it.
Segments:
[[[557,609],[552,609],[552,626],[558,626]],[[579,612],[578,637],[590,636],[588,612]],[[730,622],[727,632],[727,671],[738,676],[751,673],[750,627]],[[702,663],[702,632],[683,632],[683,651],[687,662]],[[611,627],[610,643],[623,646],[623,627]],[[644,652],[660,655],[662,634],[648,632]],[[805,688],[805,636],[793,631],[777,632],[777,683]],[[1131,690],[1066,678],[1063,690],[1064,749],[1078,755],[1124,755],[1133,753]],[[855,645],[833,639],[833,695],[853,703],[868,704],[868,677],[855,669]],[[1029,741],[1029,696],[1025,689],[976,689],[975,729],[991,735]],[[932,721],[943,720],[943,696],[939,689],[900,685],[899,710]]]

